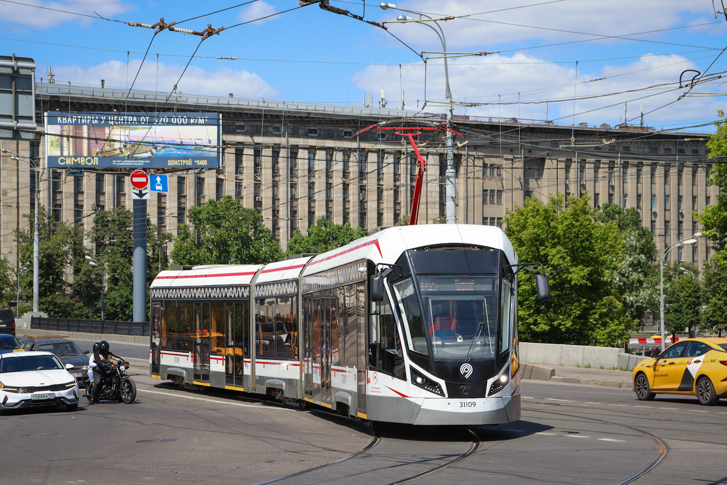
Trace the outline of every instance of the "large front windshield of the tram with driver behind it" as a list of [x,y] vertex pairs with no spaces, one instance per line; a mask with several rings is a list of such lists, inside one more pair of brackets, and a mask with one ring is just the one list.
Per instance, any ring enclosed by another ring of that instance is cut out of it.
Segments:
[[427,355],[431,349],[435,361],[495,358],[509,340],[502,321],[509,321],[510,307],[510,285],[508,297],[499,298],[497,281],[497,275],[418,275],[395,282],[409,350]]

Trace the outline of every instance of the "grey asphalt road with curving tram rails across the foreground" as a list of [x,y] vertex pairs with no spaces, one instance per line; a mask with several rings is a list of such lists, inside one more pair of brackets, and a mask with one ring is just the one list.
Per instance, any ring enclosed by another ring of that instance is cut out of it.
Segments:
[[724,400],[645,403],[628,389],[526,380],[522,419],[470,428],[477,438],[408,426],[379,427],[377,438],[328,412],[179,390],[132,370],[143,374],[131,405],[1,412],[0,483],[258,484],[351,454],[275,483],[391,484],[444,466],[408,483],[619,484],[659,457],[630,483],[727,483]]

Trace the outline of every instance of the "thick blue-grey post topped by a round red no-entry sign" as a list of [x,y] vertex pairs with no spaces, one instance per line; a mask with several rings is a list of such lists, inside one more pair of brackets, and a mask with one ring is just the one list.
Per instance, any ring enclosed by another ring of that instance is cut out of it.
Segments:
[[134,202],[134,321],[146,321],[146,199],[149,176],[143,170],[131,175]]

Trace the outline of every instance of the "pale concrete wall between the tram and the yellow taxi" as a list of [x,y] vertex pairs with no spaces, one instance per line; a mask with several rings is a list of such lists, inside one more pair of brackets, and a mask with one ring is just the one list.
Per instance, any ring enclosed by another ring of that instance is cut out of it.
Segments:
[[520,360],[528,364],[632,370],[644,358],[622,348],[520,342]]

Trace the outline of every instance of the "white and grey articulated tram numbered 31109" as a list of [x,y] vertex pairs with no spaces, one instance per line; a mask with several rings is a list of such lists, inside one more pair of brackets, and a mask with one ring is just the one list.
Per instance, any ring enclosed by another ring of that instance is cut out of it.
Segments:
[[499,228],[410,225],[268,265],[174,267],[151,284],[150,374],[363,420],[512,422],[518,270],[547,300],[538,264]]

